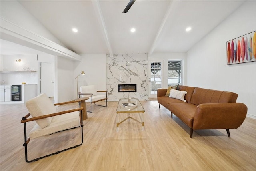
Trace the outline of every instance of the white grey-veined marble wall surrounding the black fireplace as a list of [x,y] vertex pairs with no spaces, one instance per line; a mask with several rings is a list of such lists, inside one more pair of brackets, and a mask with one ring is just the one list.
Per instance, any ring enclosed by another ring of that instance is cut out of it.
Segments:
[[[120,98],[148,99],[148,54],[106,55],[108,101]],[[136,92],[118,92],[118,84],[137,84]]]

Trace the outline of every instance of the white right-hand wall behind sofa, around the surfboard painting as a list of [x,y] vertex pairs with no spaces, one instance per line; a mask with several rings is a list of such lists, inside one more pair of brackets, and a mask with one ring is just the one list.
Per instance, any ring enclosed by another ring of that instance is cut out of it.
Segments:
[[256,62],[226,65],[226,42],[256,30],[256,1],[246,1],[187,52],[187,85],[232,91],[256,118]]

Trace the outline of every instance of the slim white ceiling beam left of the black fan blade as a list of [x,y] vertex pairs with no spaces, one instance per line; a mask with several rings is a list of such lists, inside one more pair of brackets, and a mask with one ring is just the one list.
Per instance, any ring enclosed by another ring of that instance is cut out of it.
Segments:
[[106,28],[106,25],[105,25],[105,22],[104,22],[104,18],[103,18],[102,12],[101,12],[100,3],[99,3],[98,0],[92,0],[92,5],[94,7],[95,14],[96,14],[96,16],[98,18],[98,21],[99,21],[99,24],[101,26],[100,28],[102,30],[104,40],[105,40],[107,48],[108,48],[108,53],[112,57],[113,52],[112,52],[112,48],[111,48],[111,45],[110,45],[110,41],[108,39],[108,31],[107,31],[107,28]]

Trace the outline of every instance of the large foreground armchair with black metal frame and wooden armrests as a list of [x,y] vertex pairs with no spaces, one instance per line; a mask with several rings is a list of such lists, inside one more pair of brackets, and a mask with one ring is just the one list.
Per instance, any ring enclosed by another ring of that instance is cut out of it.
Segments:
[[[47,97],[46,94],[40,94],[33,99],[30,99],[26,102],[26,107],[29,113],[22,117],[21,123],[24,123],[24,140],[25,143],[23,146],[25,147],[25,160],[26,162],[37,161],[44,157],[48,157],[50,155],[58,154],[62,151],[66,151],[68,149],[76,148],[83,143],[83,120],[82,120],[82,110],[83,107],[80,107],[80,101],[69,101],[64,103],[53,104],[52,101]],[[69,103],[79,103],[80,108],[71,109],[68,111],[56,112],[57,105],[64,105]],[[29,116],[32,118],[28,118]],[[27,139],[27,130],[26,123],[30,121],[36,121],[36,125],[32,128],[29,133],[29,137]],[[35,139],[38,137],[42,137],[45,135],[50,135],[52,133],[57,133],[60,131],[65,131],[68,129],[73,129],[76,127],[81,127],[81,143],[75,145],[73,147],[63,149],[61,151],[56,151],[54,153],[33,159],[28,160],[28,143],[31,139]]]

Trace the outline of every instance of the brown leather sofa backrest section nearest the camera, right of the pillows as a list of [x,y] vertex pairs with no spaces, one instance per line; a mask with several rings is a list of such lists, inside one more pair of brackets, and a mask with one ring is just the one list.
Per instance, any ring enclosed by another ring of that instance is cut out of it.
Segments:
[[191,97],[190,103],[200,105],[203,103],[231,103],[234,101],[234,93],[227,91],[218,91],[212,89],[203,89],[196,87]]

